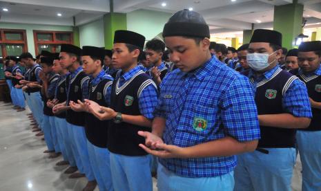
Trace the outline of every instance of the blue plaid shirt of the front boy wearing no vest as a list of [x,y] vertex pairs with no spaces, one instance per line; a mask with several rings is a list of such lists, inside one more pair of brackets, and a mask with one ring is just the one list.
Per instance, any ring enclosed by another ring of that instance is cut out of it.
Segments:
[[[254,92],[245,76],[215,55],[203,66],[168,73],[160,87],[155,117],[166,119],[164,143],[191,147],[231,136],[240,142],[260,138]],[[159,159],[187,177],[213,177],[233,171],[236,156]]]

